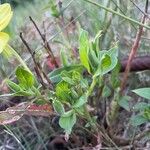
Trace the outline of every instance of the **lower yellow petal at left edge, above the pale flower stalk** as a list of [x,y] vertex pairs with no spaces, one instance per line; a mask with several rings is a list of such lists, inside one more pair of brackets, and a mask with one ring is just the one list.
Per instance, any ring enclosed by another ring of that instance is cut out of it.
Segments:
[[8,40],[9,40],[9,35],[4,32],[0,32],[0,53],[3,51]]

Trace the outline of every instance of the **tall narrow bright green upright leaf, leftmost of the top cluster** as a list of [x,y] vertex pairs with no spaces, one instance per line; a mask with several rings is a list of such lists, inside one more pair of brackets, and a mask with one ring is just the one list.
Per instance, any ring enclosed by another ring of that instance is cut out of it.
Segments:
[[88,60],[89,47],[90,47],[90,44],[89,44],[88,32],[81,29],[80,37],[79,37],[80,61],[90,73],[90,65],[89,65],[89,60]]

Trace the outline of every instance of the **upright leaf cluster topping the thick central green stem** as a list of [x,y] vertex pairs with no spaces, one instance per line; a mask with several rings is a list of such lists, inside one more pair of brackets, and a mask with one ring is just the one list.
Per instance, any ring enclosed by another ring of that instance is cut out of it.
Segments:
[[[100,32],[101,33],[101,32]],[[98,33],[96,38],[101,35]],[[96,39],[94,41],[97,41]],[[94,41],[89,41],[88,32],[81,29],[79,37],[79,55],[82,65],[88,70],[89,73],[94,74],[95,77],[105,75],[115,68],[118,63],[118,48],[106,51],[98,51],[98,46],[94,46]],[[94,43],[96,45],[96,43]],[[92,45],[92,46],[91,46]]]

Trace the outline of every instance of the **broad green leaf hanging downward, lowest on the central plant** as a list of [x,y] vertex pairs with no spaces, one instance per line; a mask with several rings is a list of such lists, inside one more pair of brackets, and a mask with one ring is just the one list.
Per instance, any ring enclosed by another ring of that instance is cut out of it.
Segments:
[[69,112],[64,113],[64,115],[61,116],[60,119],[59,119],[59,125],[68,134],[71,133],[72,127],[74,126],[75,123],[76,123],[76,114],[72,110],[69,111]]

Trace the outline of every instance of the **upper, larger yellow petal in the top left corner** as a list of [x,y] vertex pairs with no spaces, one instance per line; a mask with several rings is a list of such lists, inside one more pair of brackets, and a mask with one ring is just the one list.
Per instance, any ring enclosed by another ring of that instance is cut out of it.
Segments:
[[5,3],[0,5],[0,31],[3,30],[12,18],[13,12],[11,11],[10,4]]

